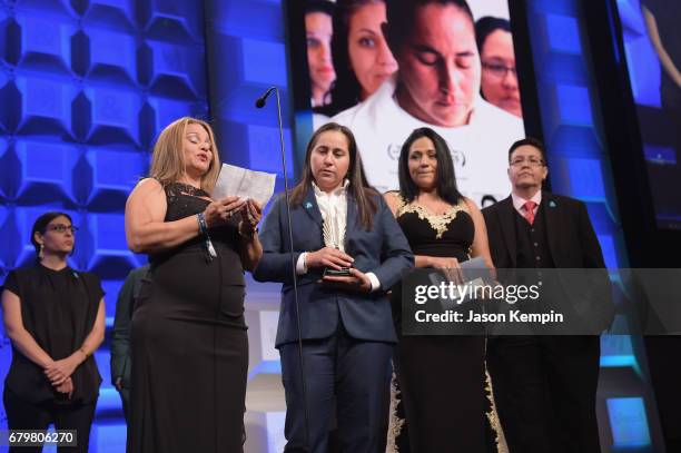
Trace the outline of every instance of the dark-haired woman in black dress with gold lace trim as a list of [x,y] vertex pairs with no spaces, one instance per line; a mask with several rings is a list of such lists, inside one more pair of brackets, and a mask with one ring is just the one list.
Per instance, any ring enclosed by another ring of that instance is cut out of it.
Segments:
[[[398,171],[399,191],[385,197],[409,242],[416,267],[455,269],[482,256],[492,268],[483,216],[457,190],[444,139],[430,128],[414,130],[402,147]],[[396,290],[397,324],[399,298]],[[485,392],[485,337],[403,336],[401,325],[397,335],[393,361],[409,450],[485,452],[491,407]],[[393,423],[393,427],[398,426]]]

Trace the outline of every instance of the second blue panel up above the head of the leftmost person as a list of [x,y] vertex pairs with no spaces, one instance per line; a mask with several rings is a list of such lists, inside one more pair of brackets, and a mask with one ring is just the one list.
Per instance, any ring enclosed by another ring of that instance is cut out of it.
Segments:
[[57,79],[18,77],[21,92],[19,134],[71,137],[71,102],[76,87]]

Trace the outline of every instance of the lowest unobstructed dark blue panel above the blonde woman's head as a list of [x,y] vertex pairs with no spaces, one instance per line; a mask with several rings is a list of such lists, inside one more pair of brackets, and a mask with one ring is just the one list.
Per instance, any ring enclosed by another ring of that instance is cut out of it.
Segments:
[[184,99],[205,95],[201,48],[147,41],[140,56],[140,82],[149,85],[152,93]]

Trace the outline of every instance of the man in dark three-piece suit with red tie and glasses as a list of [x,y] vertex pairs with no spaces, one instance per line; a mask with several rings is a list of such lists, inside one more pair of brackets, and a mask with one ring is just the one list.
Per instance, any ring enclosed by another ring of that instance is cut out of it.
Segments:
[[[483,209],[496,268],[536,269],[536,275],[547,268],[604,268],[584,204],[542,190],[549,174],[544,146],[519,140],[509,164],[511,196]],[[590,332],[601,332],[612,318],[609,301],[596,302],[604,309],[589,317]],[[598,335],[493,337],[487,365],[511,453],[600,452]]]

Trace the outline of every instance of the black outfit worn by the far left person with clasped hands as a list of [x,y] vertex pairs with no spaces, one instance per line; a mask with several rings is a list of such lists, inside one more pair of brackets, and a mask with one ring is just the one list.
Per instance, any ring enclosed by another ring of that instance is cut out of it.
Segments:
[[[96,275],[68,266],[52,270],[40,264],[11,272],[4,289],[19,297],[23,327],[56,361],[82,346],[95,326],[103,296]],[[55,423],[58,430],[78,431],[79,446],[69,451],[87,451],[101,384],[95,356],[76,368],[71,381],[73,394],[69,400],[52,387],[40,366],[12,345],[3,393],[9,429],[46,430]]]

